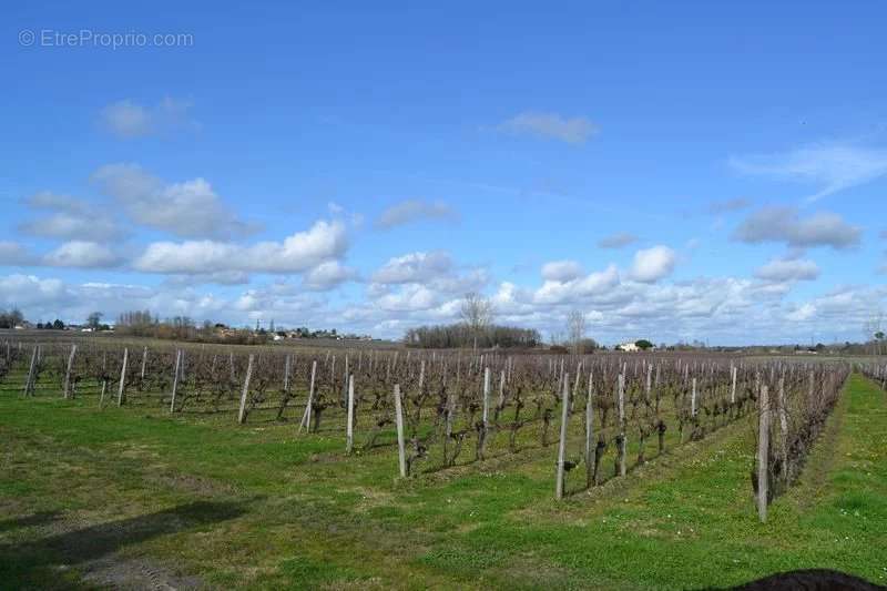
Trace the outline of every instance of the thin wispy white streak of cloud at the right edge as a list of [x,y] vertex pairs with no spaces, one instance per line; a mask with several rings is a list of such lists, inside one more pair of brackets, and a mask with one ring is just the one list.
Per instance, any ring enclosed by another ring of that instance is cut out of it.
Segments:
[[807,197],[814,202],[887,175],[887,150],[818,143],[784,153],[734,156],[730,164],[743,174],[817,185],[818,191]]

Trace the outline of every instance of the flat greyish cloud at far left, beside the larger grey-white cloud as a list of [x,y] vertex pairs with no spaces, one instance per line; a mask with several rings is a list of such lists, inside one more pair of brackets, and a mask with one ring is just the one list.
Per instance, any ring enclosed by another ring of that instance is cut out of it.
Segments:
[[121,235],[110,215],[84,201],[44,191],[31,195],[24,203],[33,210],[49,212],[19,224],[19,231],[24,234],[92,242],[111,241]]

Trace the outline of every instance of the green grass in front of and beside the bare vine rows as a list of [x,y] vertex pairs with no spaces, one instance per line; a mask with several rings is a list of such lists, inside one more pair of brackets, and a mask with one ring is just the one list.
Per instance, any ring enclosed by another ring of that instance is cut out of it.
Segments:
[[[751,420],[751,419],[748,419]],[[0,398],[0,587],[724,587],[834,568],[887,583],[887,398],[853,375],[758,523],[741,420],[555,502],[554,448],[394,478],[343,437],[94,400]]]

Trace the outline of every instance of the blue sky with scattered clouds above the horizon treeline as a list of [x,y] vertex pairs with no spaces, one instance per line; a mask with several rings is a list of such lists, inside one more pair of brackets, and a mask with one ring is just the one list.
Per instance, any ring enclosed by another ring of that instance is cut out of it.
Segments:
[[887,4],[18,2],[0,308],[859,340]]

